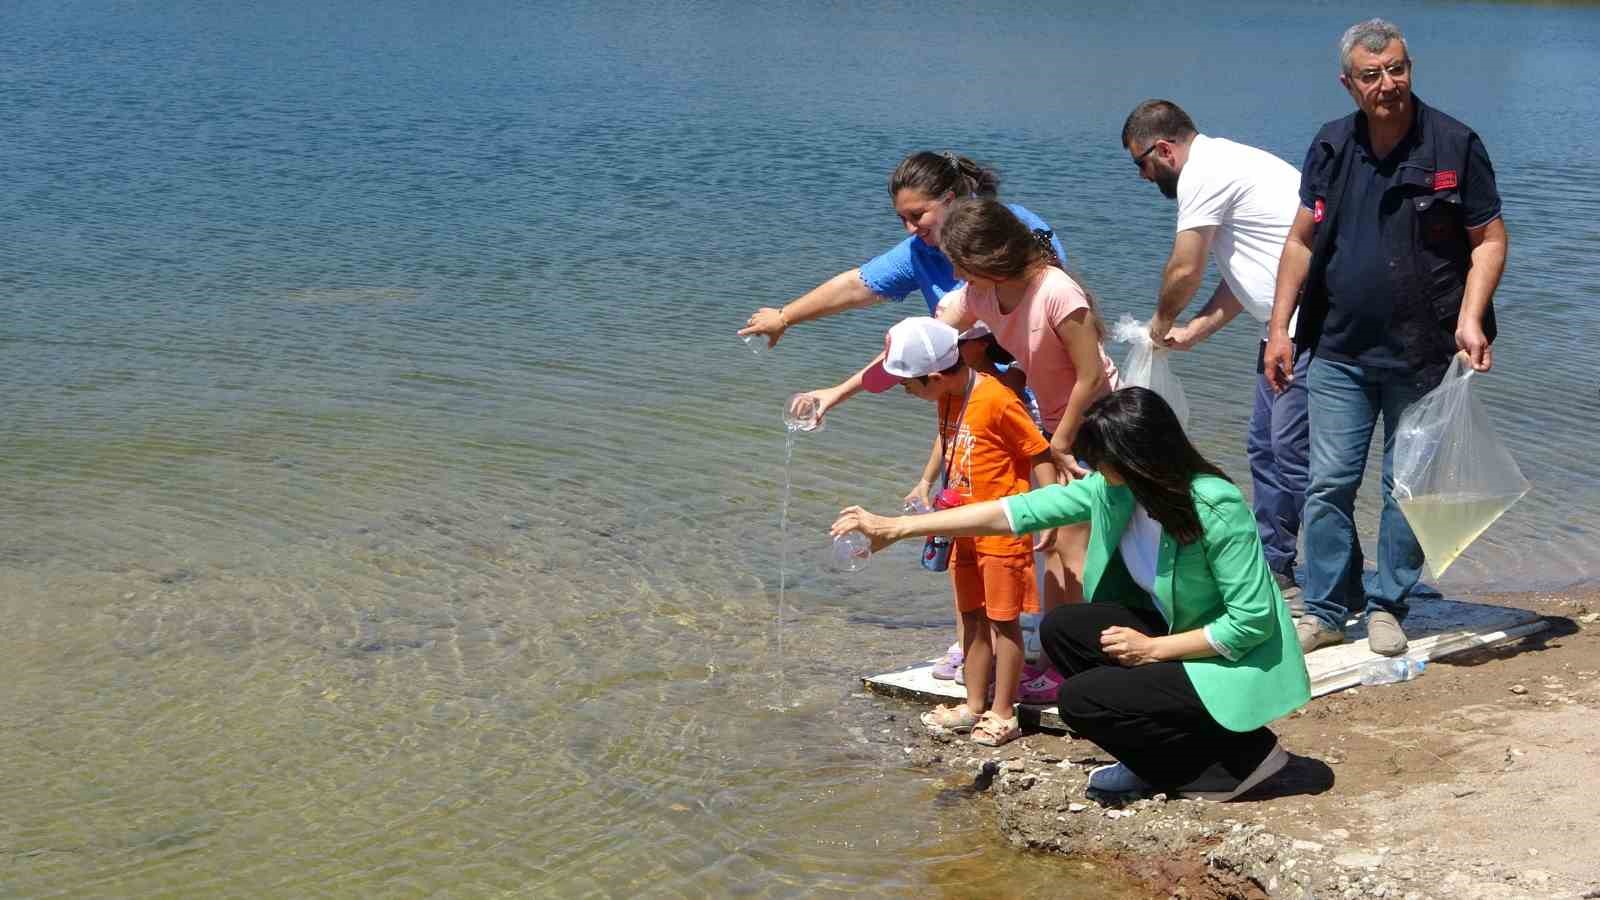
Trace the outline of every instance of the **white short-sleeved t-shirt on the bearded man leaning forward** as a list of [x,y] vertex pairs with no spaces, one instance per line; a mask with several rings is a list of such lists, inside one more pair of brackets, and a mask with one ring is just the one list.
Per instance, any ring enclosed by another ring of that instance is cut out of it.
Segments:
[[1195,135],[1178,175],[1178,231],[1216,226],[1211,258],[1262,325],[1272,317],[1278,256],[1301,205],[1299,181],[1293,165],[1267,151],[1205,135]]

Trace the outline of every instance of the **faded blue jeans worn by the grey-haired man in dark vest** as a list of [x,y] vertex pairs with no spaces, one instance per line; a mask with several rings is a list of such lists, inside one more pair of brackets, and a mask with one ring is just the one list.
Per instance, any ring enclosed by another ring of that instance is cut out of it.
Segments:
[[[1314,359],[1310,399],[1310,488],[1306,492],[1306,612],[1344,629],[1347,610],[1384,610],[1405,618],[1406,597],[1422,573],[1422,548],[1395,503],[1394,445],[1400,413],[1434,389],[1414,372],[1363,368]],[[1384,511],[1378,520],[1378,577],[1363,588],[1362,541],[1355,535],[1355,492],[1384,420]],[[1365,601],[1363,601],[1365,594]]]

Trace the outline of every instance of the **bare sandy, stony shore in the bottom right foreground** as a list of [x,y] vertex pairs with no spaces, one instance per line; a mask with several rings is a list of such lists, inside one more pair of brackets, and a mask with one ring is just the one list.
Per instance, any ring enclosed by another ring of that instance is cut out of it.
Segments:
[[1242,802],[1102,807],[1083,796],[1109,762],[1093,743],[990,751],[896,722],[912,764],[986,794],[1013,846],[1114,863],[1160,897],[1600,897],[1600,589],[1472,599],[1550,628],[1312,700],[1274,725],[1290,767]]

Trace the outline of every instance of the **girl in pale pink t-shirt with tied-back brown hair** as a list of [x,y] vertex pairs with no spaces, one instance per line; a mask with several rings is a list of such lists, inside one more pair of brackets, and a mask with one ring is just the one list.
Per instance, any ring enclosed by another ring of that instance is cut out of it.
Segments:
[[[1050,232],[1029,229],[1002,203],[957,200],[939,248],[966,285],[944,296],[938,315],[958,330],[976,322],[989,325],[1027,373],[1056,469],[1062,477],[1082,477],[1088,471],[1072,456],[1072,442],[1083,410],[1117,388],[1117,367],[1101,346],[1104,325],[1094,298],[1061,269],[1050,239]],[[1046,615],[1062,602],[1083,601],[1088,527],[1056,532],[1043,594]],[[1053,698],[1059,682],[1056,673],[1045,671],[1024,685],[1024,700]]]

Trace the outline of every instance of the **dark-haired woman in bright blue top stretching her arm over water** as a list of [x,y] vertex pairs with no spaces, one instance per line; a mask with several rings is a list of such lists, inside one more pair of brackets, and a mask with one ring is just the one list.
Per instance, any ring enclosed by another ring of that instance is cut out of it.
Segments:
[[[1000,189],[1000,176],[973,160],[949,151],[922,151],[906,157],[890,175],[890,199],[906,231],[906,240],[872,261],[834,275],[781,307],[763,306],[750,314],[739,336],[762,335],[766,346],[778,346],[790,325],[834,315],[846,309],[872,306],[882,299],[906,299],[920,290],[931,315],[939,298],[960,287],[955,267],[939,251],[939,229],[957,197],[992,197]],[[1030,229],[1050,231],[1043,219],[1024,207],[1008,208]],[[1067,251],[1051,237],[1056,258],[1066,263]]]

